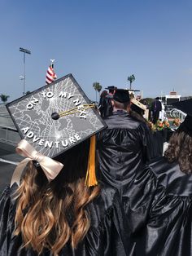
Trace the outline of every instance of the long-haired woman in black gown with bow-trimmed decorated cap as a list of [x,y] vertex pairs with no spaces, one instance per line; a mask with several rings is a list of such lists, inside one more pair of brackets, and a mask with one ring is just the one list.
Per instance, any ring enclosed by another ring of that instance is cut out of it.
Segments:
[[[73,97],[63,94],[61,98],[58,88],[73,88],[76,94]],[[55,99],[46,97],[45,90],[54,91]],[[95,133],[104,127],[104,122],[99,121],[102,118],[71,75],[35,91],[37,105],[30,103],[23,108],[20,102],[26,104],[31,97],[25,95],[9,104],[16,123],[28,121],[28,129],[39,133],[35,139],[32,132],[30,136],[24,134],[16,151],[26,158],[17,166],[11,186],[0,197],[0,255],[128,255],[127,222],[118,191],[103,186],[95,175]],[[80,99],[83,104],[78,108],[75,104]],[[42,104],[41,108],[38,104]],[[64,104],[67,107],[61,112]],[[19,118],[17,111],[15,115],[18,108],[30,118],[22,119],[25,115]],[[81,118],[82,108],[86,118]],[[39,120],[37,115],[44,118]],[[23,126],[20,134],[26,130],[22,129]],[[68,135],[71,144],[64,148],[62,143],[59,147],[61,143],[56,140],[53,150],[54,144],[45,147],[41,135],[52,135],[53,140],[58,135],[63,138]],[[50,152],[57,153],[54,159],[50,158]]]

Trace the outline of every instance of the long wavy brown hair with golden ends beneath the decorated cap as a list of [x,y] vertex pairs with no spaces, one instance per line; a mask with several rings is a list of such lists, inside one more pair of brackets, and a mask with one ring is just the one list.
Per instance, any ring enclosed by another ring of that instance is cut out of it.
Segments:
[[24,247],[38,254],[47,248],[58,255],[68,242],[75,249],[85,237],[90,225],[85,208],[99,194],[98,186],[85,186],[88,144],[81,143],[57,159],[64,167],[50,183],[33,161],[24,171],[15,193],[15,235],[22,235]]

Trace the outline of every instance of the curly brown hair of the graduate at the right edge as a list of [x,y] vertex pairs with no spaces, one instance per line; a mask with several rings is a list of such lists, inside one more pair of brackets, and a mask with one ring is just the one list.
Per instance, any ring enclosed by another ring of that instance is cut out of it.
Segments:
[[164,157],[168,161],[178,161],[181,171],[192,173],[192,137],[184,131],[173,133]]

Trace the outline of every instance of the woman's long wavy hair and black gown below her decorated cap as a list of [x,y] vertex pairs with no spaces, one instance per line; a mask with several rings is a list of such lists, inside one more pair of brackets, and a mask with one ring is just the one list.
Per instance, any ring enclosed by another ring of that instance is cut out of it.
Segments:
[[[119,195],[85,186],[89,139],[57,157],[63,170],[50,181],[30,161],[19,187],[0,197],[0,255],[129,255]],[[74,161],[75,160],[75,161]]]

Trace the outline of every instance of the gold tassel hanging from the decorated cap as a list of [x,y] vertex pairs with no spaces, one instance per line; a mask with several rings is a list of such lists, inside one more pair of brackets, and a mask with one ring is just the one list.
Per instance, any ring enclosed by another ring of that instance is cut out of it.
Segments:
[[96,174],[95,174],[95,145],[96,145],[96,136],[90,138],[89,146],[89,159],[87,166],[87,173],[85,178],[85,186],[91,187],[98,184]]

